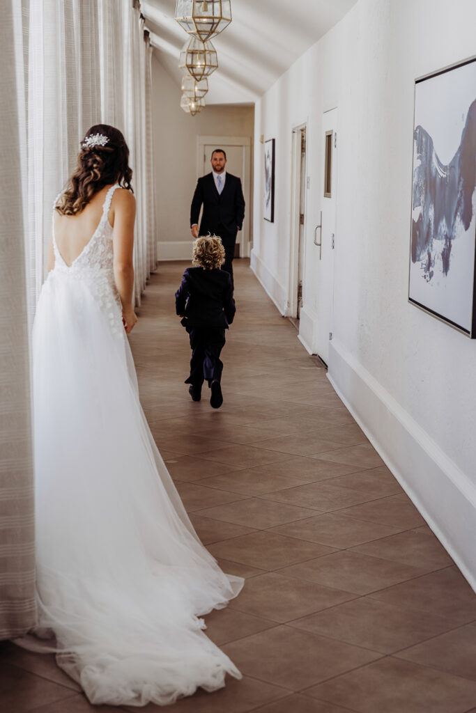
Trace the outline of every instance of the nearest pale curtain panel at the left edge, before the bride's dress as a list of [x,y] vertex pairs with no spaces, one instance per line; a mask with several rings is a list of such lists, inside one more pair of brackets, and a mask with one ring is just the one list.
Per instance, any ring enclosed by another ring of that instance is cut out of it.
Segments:
[[23,51],[22,3],[7,0],[0,24],[0,639],[24,634],[36,619]]

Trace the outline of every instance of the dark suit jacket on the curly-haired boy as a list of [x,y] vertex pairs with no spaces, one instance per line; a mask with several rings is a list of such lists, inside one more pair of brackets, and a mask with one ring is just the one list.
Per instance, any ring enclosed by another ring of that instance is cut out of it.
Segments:
[[188,267],[176,292],[176,313],[186,327],[228,327],[236,307],[231,277],[225,270]]

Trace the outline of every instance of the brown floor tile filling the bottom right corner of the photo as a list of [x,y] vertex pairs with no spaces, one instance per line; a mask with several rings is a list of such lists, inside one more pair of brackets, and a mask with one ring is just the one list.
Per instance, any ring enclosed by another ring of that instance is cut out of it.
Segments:
[[476,683],[388,657],[305,693],[359,713],[465,713]]

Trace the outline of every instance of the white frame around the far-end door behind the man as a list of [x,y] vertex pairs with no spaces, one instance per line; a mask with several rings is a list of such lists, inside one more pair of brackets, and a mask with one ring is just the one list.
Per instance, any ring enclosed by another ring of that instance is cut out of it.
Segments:
[[200,134],[197,136],[197,180],[201,177],[201,175],[203,175],[203,155],[207,144],[213,144],[217,148],[224,148],[225,150],[227,146],[240,146],[243,148],[243,163],[241,166],[240,178],[245,198],[245,220],[243,221],[245,231],[244,234],[243,232],[241,234],[238,232],[236,241],[240,245],[240,257],[250,257],[251,248],[253,247],[253,175],[251,173],[251,142],[252,139],[250,136],[207,136]]

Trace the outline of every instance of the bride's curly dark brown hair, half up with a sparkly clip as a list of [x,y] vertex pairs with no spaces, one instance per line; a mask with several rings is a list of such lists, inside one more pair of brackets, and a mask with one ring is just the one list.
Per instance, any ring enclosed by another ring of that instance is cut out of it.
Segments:
[[[96,134],[108,138],[106,145],[88,146],[85,143],[89,136]],[[129,149],[121,131],[108,124],[91,126],[81,141],[78,165],[59,198],[56,210],[61,215],[80,213],[105,185],[118,183],[121,188],[132,191],[132,170],[128,159]]]

